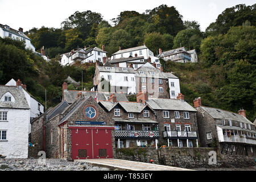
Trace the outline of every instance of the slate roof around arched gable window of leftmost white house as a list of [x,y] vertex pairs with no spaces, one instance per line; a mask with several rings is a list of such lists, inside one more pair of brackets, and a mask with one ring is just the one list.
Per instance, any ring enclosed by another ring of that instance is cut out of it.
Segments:
[[15,102],[0,101],[1,108],[30,109],[23,89],[18,89],[16,86],[0,85],[0,98],[2,98],[6,92],[10,92],[13,95]]

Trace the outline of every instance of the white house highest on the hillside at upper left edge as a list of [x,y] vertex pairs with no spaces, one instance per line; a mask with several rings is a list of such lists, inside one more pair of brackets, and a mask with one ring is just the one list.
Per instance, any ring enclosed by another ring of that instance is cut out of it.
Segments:
[[0,37],[1,38],[12,38],[15,40],[24,41],[26,43],[27,49],[32,49],[35,52],[35,47],[31,44],[31,39],[28,38],[24,32],[23,28],[19,28],[19,30],[14,30],[10,26],[0,24]]

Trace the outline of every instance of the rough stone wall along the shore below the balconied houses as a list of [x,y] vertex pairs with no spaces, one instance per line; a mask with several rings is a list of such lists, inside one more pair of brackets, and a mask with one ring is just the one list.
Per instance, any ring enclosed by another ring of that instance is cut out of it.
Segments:
[[199,167],[248,167],[254,166],[252,156],[222,155],[217,153],[216,165],[209,164],[209,152],[214,148],[179,148],[179,147],[146,147],[146,148],[119,148],[116,150],[115,158],[132,160],[137,162],[150,163],[150,159],[155,164],[174,166],[180,168]]

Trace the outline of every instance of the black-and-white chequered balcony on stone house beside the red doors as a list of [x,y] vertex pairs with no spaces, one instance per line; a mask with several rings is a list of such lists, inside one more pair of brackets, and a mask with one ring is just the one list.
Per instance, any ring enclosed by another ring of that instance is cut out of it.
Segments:
[[159,131],[115,130],[115,138],[119,138],[119,139],[159,139]]

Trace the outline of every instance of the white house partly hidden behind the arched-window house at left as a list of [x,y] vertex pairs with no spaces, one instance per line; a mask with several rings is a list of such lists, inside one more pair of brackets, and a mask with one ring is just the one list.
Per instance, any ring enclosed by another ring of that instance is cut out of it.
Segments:
[[[17,86],[20,84],[22,86],[23,93],[25,94],[28,106],[30,107],[30,120],[33,118],[37,118],[39,115],[44,113],[44,105],[40,103],[34,96],[31,95],[27,91],[26,85],[22,84],[20,80],[15,81],[14,79],[11,79],[9,82],[7,82],[6,86]],[[31,125],[28,124],[28,134],[31,133]]]

